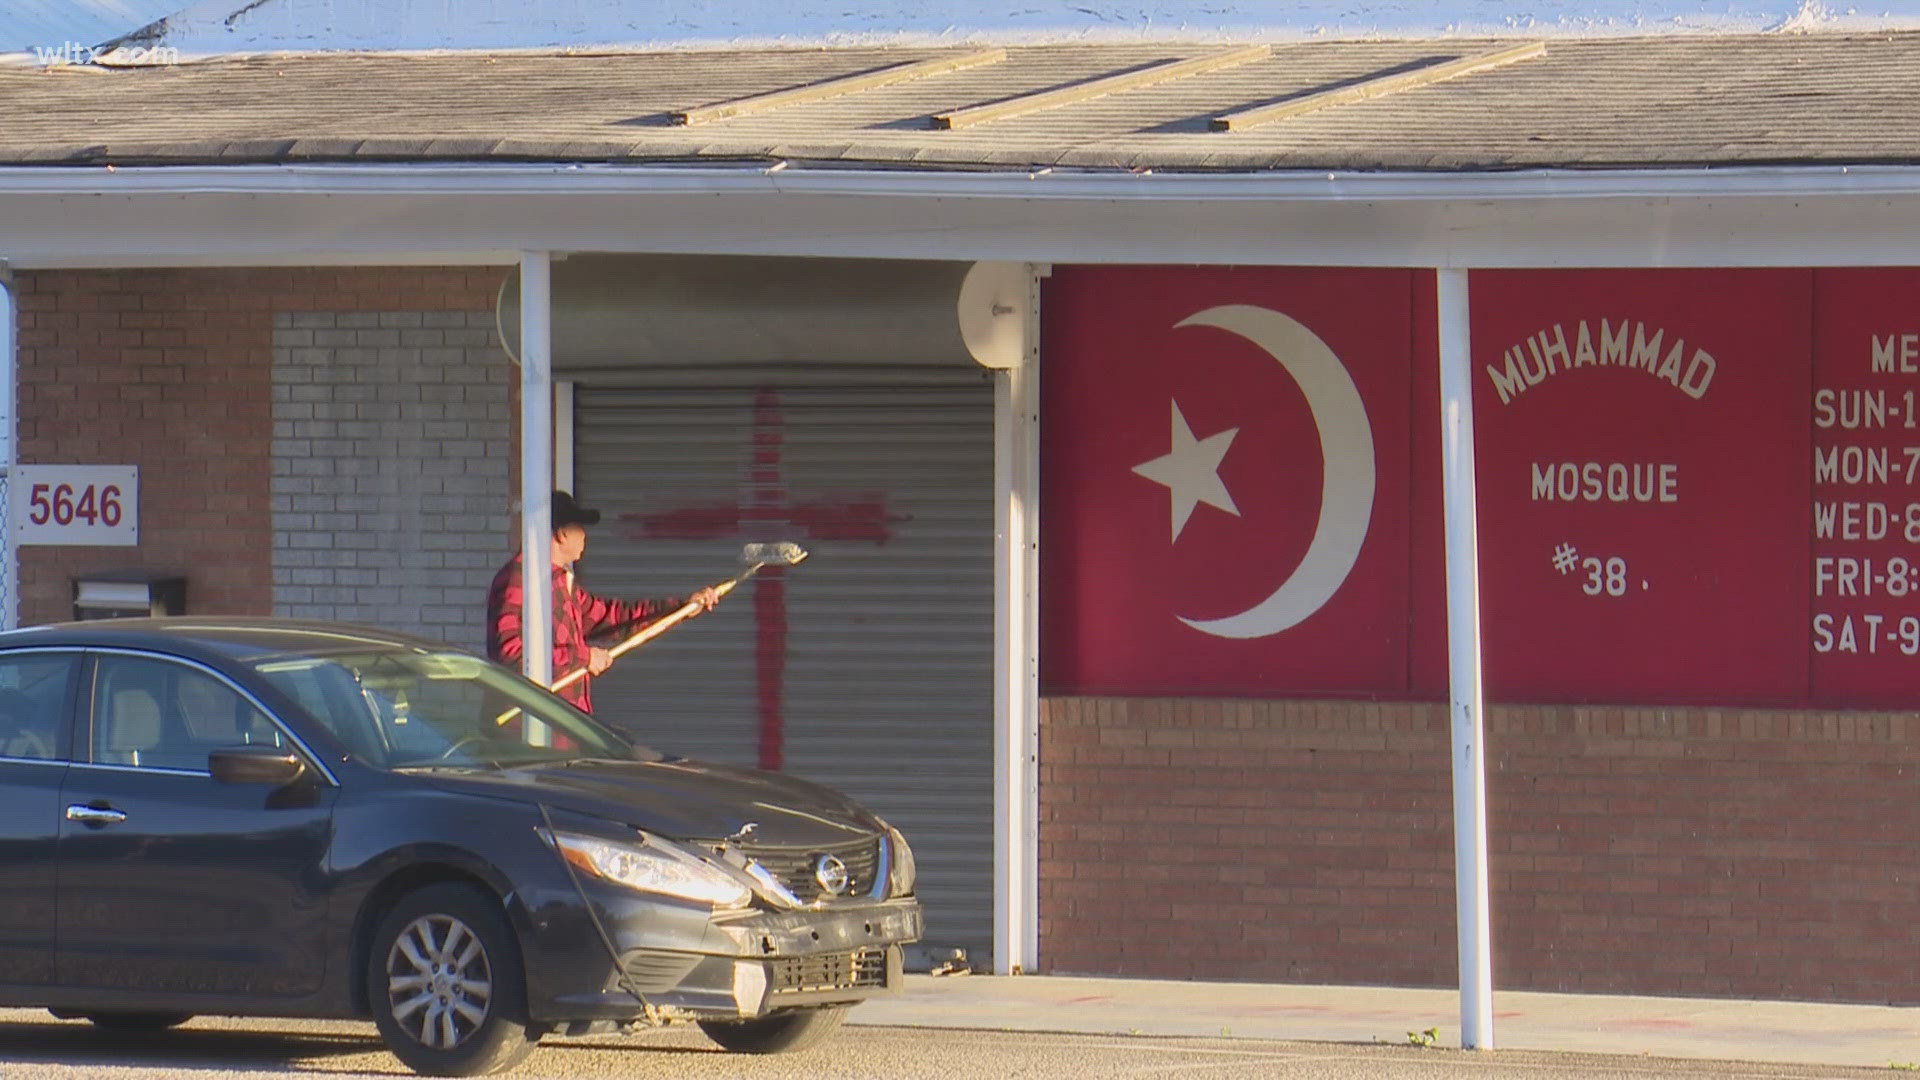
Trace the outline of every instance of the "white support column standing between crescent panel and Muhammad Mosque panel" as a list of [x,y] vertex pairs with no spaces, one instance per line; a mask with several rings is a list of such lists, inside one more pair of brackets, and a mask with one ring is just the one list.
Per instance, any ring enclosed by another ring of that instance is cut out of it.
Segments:
[[1473,488],[1473,336],[1467,321],[1467,271],[1442,269],[1438,279],[1459,1045],[1494,1049],[1494,961],[1486,899],[1486,698],[1480,684],[1478,500]]

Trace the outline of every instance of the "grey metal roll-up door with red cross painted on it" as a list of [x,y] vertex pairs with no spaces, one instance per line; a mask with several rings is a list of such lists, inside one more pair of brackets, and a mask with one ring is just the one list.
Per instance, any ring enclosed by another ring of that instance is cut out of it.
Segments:
[[576,388],[576,494],[607,511],[588,588],[682,596],[753,540],[812,555],[622,659],[595,713],[670,753],[772,751],[854,796],[914,844],[927,944],[991,963],[991,377],[630,379],[655,384]]

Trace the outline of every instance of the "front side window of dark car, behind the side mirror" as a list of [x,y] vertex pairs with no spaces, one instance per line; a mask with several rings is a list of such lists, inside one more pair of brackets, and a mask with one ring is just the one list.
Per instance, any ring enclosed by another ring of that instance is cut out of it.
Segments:
[[265,713],[205,671],[129,655],[98,661],[94,763],[205,773],[215,749],[284,744]]

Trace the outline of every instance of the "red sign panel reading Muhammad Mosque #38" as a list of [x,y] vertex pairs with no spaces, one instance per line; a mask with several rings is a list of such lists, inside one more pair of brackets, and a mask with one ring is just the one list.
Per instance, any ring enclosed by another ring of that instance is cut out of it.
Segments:
[[1811,290],[1473,275],[1490,696],[1805,700]]

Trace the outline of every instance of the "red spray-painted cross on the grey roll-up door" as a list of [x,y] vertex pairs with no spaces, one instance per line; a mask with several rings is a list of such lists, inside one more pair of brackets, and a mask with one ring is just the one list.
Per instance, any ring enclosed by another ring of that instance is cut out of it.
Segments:
[[[841,500],[791,502],[781,471],[785,413],[780,394],[762,388],[753,398],[751,498],[745,503],[708,503],[630,513],[630,536],[651,540],[864,540],[885,544],[900,517],[887,515],[881,494]],[[799,534],[799,536],[795,536]],[[787,671],[787,580],[783,567],[766,567],[753,578],[755,675],[758,676],[760,769],[780,769],[785,749],[783,686]]]

